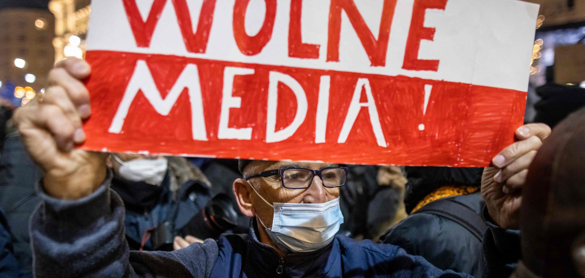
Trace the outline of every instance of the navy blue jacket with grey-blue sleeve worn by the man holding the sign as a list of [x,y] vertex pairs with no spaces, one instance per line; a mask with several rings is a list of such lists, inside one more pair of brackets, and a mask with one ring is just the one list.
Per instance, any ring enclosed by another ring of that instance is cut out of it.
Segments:
[[[249,235],[207,239],[174,252],[130,252],[124,237],[122,200],[109,190],[110,178],[80,200],[53,199],[40,192],[43,203],[31,220],[37,277],[471,277],[439,270],[404,249],[336,236],[324,248],[279,258]],[[486,234],[488,262],[497,276],[511,273],[509,240],[517,233],[490,227]],[[516,245],[517,246],[517,245]],[[490,257],[493,257],[492,260]],[[506,260],[505,260],[506,259]],[[514,258],[518,259],[518,258]],[[283,263],[283,274],[277,269]],[[507,276],[506,276],[507,277]]]

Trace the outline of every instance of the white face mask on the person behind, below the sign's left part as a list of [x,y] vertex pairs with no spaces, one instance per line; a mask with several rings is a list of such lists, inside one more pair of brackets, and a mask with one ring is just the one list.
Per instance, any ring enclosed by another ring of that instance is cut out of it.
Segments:
[[123,179],[133,182],[146,182],[151,185],[160,185],[163,182],[164,176],[167,174],[168,161],[164,157],[134,159],[131,161],[122,161],[115,154],[112,154],[112,157],[120,164],[116,173]]

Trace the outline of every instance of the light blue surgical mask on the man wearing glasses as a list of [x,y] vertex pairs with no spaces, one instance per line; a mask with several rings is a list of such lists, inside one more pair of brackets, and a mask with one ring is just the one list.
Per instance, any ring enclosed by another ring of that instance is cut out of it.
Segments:
[[[251,185],[250,185],[251,186]],[[269,206],[274,208],[272,228],[266,228],[270,238],[281,249],[288,252],[309,252],[321,249],[339,231],[343,215],[339,209],[339,198],[322,204],[270,204],[251,186]],[[256,216],[264,227],[268,227]]]

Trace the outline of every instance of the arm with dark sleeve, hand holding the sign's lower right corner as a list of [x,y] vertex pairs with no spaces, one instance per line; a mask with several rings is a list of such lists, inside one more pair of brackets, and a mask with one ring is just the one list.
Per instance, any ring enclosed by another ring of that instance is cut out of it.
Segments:
[[484,277],[508,277],[521,254],[519,213],[522,187],[528,166],[550,134],[546,124],[526,124],[515,133],[518,139],[504,148],[481,177],[481,194],[486,201],[483,210],[488,229],[484,235]]

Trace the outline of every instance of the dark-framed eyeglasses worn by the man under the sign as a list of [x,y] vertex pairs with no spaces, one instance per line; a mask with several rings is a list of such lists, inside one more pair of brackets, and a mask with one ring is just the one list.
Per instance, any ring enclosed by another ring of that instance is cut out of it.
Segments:
[[311,170],[306,168],[280,168],[268,171],[263,171],[251,176],[244,177],[244,180],[249,180],[256,177],[267,178],[269,176],[280,175],[280,181],[285,188],[289,189],[304,189],[309,188],[315,175],[318,175],[325,187],[340,187],[345,185],[347,180],[347,167],[327,167],[320,170]]

